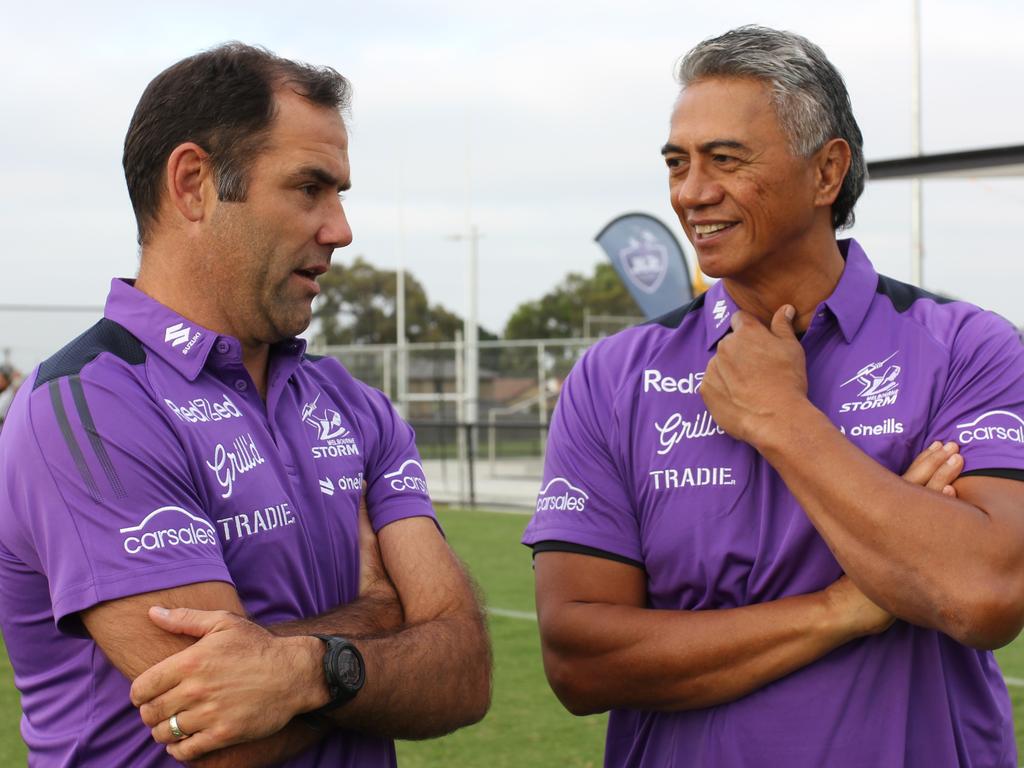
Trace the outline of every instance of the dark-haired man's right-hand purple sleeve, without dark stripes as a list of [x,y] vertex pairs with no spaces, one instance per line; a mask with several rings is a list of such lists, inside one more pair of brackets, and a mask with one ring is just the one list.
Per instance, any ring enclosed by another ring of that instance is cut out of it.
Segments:
[[376,429],[367,466],[367,508],[374,530],[406,517],[436,522],[416,433],[383,392],[370,390],[367,401],[373,414],[369,423]]

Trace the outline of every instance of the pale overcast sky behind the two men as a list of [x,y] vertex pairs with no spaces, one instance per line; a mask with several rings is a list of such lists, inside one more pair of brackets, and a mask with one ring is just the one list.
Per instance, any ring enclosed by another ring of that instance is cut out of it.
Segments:
[[[922,0],[927,153],[1024,142],[1024,4]],[[480,322],[604,258],[613,216],[677,232],[658,150],[673,66],[740,24],[791,29],[844,74],[868,160],[910,150],[910,0],[3,3],[0,304],[102,304],[134,274],[121,146],[146,83],[225,40],[328,63],[354,85],[355,242],[335,253],[407,266],[462,312],[469,216],[480,243]],[[907,182],[869,183],[852,234],[909,278]],[[1016,223],[1024,179],[925,184],[925,286],[1024,323]],[[682,237],[680,234],[680,237]],[[403,245],[402,245],[403,244]],[[689,252],[688,252],[689,253]],[[28,368],[95,319],[0,311],[0,356]]]

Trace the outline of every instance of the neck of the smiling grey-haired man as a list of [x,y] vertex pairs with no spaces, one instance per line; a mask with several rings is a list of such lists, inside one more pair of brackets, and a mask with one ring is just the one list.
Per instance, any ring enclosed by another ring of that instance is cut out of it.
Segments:
[[784,259],[766,259],[765,269],[755,274],[723,278],[725,289],[736,305],[769,325],[783,304],[797,309],[794,328],[806,331],[818,304],[836,290],[845,266],[835,232],[818,238]]

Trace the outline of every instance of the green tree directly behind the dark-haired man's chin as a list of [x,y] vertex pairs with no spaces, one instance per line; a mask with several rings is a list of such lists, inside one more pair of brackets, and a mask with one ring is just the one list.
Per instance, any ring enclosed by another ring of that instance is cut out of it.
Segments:
[[[361,256],[349,265],[332,264],[319,279],[313,309],[317,338],[326,344],[390,344],[396,339],[393,269],[378,269]],[[415,276],[406,272],[406,336],[410,341],[453,341],[463,321],[440,304],[431,305]],[[479,329],[480,339],[497,338]]]

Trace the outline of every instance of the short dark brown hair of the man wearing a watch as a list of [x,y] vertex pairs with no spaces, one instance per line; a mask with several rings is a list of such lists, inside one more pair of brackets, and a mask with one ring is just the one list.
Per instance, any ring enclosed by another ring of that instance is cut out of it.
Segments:
[[265,146],[281,87],[339,112],[351,95],[348,81],[330,67],[237,42],[182,59],[153,79],[128,126],[122,159],[140,245],[157,218],[167,158],[181,143],[194,141],[208,153],[220,200],[246,199],[248,171]]

